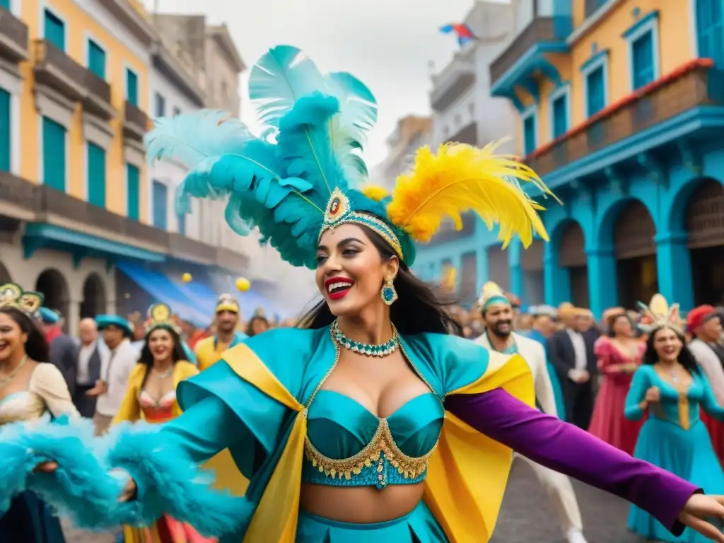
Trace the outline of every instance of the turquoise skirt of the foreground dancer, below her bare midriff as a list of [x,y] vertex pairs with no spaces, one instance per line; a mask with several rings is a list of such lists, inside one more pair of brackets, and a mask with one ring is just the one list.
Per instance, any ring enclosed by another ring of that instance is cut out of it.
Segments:
[[296,543],[448,543],[445,532],[420,502],[392,521],[354,524],[299,512]]

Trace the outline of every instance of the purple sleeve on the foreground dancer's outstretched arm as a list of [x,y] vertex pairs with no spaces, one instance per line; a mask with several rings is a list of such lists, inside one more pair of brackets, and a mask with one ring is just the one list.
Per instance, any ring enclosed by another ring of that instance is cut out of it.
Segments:
[[530,408],[502,389],[449,396],[445,409],[534,462],[637,505],[676,536],[684,529],[678,514],[691,494],[701,492],[573,424]]

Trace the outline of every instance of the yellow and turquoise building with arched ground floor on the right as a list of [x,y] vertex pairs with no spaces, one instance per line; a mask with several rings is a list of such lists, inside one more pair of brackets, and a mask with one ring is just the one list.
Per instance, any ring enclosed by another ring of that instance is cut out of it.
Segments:
[[491,93],[515,107],[518,152],[563,205],[543,201],[550,243],[511,245],[487,277],[597,315],[657,291],[684,311],[722,303],[721,1],[514,6]]

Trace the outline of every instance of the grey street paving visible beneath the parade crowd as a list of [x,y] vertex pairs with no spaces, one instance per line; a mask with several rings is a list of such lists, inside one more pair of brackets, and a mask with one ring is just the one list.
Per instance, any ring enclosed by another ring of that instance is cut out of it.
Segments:
[[[589,543],[636,543],[626,531],[628,504],[588,485],[573,481]],[[513,464],[492,543],[561,543],[563,536],[547,494],[531,468]],[[67,524],[64,523],[67,527]],[[108,534],[88,534],[67,527],[68,543],[113,543]]]

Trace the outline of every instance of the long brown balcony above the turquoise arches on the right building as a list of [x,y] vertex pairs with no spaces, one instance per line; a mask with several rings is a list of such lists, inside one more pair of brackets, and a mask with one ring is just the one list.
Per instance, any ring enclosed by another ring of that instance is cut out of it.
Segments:
[[[635,154],[637,149],[624,143],[624,140],[633,140],[639,137],[640,132],[651,130],[657,125],[665,126],[662,123],[674,122],[677,117],[686,117],[687,112],[691,113],[688,124],[684,119],[676,132],[672,128],[657,135],[659,144],[682,138],[687,130],[694,132],[702,126],[711,125],[711,122],[704,122],[707,119],[696,117],[699,108],[724,106],[724,72],[710,65],[710,60],[698,59],[654,81],[549,145],[536,149],[526,157],[526,164],[537,174],[545,175],[569,164],[575,167],[576,161],[600,154],[598,151],[619,143],[626,146],[626,153]],[[715,129],[712,127],[712,130]],[[717,130],[721,130],[721,127],[718,126]],[[665,138],[667,134],[669,137]],[[653,138],[651,135],[646,139],[651,142]]]

